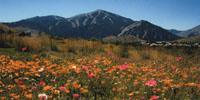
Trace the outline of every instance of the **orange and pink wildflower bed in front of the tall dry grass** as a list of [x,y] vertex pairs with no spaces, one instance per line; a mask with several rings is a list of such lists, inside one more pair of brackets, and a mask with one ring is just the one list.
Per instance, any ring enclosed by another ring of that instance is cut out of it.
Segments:
[[182,56],[138,63],[96,54],[73,60],[0,54],[0,99],[198,100],[200,66]]

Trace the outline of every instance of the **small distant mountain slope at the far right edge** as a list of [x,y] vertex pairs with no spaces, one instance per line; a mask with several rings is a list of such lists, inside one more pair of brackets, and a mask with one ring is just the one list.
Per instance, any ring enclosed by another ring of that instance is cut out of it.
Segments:
[[183,37],[200,36],[200,25],[179,34]]

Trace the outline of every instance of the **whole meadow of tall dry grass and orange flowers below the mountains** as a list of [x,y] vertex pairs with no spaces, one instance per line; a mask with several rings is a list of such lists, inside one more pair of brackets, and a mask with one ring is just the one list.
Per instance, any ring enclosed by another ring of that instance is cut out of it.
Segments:
[[199,49],[52,41],[0,49],[1,100],[200,99]]

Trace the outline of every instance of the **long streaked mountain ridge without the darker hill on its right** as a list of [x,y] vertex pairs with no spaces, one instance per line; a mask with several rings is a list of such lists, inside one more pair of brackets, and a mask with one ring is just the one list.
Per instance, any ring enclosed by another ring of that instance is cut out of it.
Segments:
[[7,24],[12,27],[29,27],[61,37],[103,38],[117,35],[125,26],[133,22],[129,18],[96,10],[71,18],[43,16]]

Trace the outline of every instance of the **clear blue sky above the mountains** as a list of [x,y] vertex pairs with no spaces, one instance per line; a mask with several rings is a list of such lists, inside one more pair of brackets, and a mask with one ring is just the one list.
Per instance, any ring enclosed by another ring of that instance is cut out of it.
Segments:
[[68,18],[97,9],[166,29],[200,25],[200,0],[0,0],[0,22],[47,15]]

